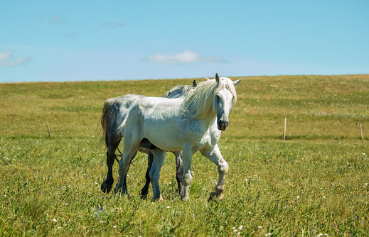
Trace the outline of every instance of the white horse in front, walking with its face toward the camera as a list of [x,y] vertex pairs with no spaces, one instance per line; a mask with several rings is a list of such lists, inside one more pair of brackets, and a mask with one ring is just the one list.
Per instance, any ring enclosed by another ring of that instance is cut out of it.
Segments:
[[114,192],[121,192],[129,162],[139,149],[141,141],[149,140],[156,147],[151,150],[154,163],[149,172],[154,199],[161,197],[159,177],[165,150],[183,150],[183,200],[188,199],[192,182],[191,161],[197,150],[218,166],[218,184],[209,200],[223,199],[228,163],[223,159],[217,143],[221,131],[228,126],[228,114],[232,103],[237,100],[235,87],[240,81],[241,79],[232,82],[229,78],[220,78],[216,74],[215,79],[198,84],[196,89],[178,99],[143,97],[134,101],[129,115],[119,127],[119,131],[124,134],[124,148]]

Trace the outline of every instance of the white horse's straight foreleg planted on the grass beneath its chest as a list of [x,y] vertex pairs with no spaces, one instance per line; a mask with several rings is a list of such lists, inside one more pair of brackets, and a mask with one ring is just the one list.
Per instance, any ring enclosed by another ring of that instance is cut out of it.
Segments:
[[183,195],[182,200],[188,200],[188,193],[190,191],[190,184],[192,182],[192,174],[191,174],[191,162],[192,162],[193,151],[190,145],[183,146],[182,151],[182,161],[183,161]]

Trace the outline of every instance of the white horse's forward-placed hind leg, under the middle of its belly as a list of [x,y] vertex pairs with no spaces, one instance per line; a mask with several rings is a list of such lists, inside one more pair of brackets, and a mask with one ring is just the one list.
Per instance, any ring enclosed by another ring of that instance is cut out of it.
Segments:
[[151,170],[149,172],[152,184],[152,190],[154,192],[153,200],[159,199],[160,201],[163,200],[160,194],[159,188],[159,178],[160,178],[160,170],[161,167],[164,165],[165,160],[165,150],[161,150],[156,148],[155,150],[151,150],[152,154],[154,155],[154,162],[152,163]]

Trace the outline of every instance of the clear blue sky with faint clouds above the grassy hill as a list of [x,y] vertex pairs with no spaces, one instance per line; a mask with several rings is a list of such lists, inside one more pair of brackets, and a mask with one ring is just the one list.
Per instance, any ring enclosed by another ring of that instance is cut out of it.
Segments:
[[0,82],[369,73],[369,1],[0,2]]

